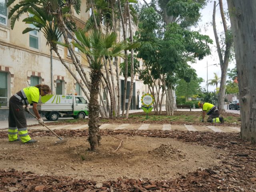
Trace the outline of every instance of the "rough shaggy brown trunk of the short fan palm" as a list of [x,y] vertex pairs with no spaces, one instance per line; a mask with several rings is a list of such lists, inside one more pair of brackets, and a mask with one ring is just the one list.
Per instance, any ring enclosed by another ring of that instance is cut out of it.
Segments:
[[100,71],[92,70],[90,74],[91,78],[91,90],[90,90],[90,103],[89,103],[89,136],[88,140],[92,151],[98,150],[100,143],[99,135],[99,103],[98,95],[100,92],[100,78],[102,74]]

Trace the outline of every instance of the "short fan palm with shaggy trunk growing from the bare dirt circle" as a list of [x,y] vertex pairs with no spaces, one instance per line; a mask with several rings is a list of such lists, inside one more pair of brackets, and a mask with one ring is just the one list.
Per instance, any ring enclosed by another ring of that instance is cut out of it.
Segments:
[[128,47],[122,41],[116,43],[117,34],[112,32],[106,34],[105,36],[99,30],[92,30],[90,35],[85,34],[83,30],[78,30],[76,32],[76,38],[81,42],[78,44],[73,42],[80,51],[88,55],[90,58],[90,79],[91,79],[91,89],[90,89],[90,103],[89,103],[89,142],[91,150],[97,150],[100,142],[99,135],[99,85],[100,80],[103,77],[102,66],[103,58],[108,56],[121,56],[121,52]]

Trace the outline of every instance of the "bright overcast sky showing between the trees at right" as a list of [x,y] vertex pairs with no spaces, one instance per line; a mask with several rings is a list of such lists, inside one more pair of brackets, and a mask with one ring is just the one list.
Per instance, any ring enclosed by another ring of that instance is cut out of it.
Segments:
[[[218,1],[216,1],[216,4],[218,4]],[[210,38],[214,41],[214,43],[211,45],[212,55],[205,57],[203,60],[198,61],[195,64],[191,64],[191,66],[196,70],[198,77],[202,77],[204,79],[204,82],[201,84],[201,86],[204,87],[205,89],[207,88],[207,86],[206,86],[207,62],[208,62],[208,80],[213,79],[214,72],[218,74],[218,77],[221,76],[220,65],[218,65],[218,66],[213,65],[213,64],[220,63],[219,58],[218,58],[217,49],[216,49],[214,32],[213,32],[213,28],[212,28],[213,5],[214,5],[214,1],[211,1],[207,4],[207,6],[203,10],[201,10],[202,18],[201,18],[201,21],[199,22],[198,27],[195,29],[195,30],[199,30],[201,34],[206,34],[206,35],[210,36]],[[224,7],[224,12],[227,12],[228,6],[227,6],[226,0],[223,0],[223,7]],[[220,16],[219,5],[216,7],[215,19],[216,19],[217,33],[223,32],[224,29],[223,29],[223,25],[222,25],[221,16]],[[227,25],[230,25],[229,21],[227,21]],[[234,67],[235,67],[235,61],[231,61],[229,63],[228,68],[232,69]],[[214,89],[215,89],[214,86],[208,86],[208,91],[214,91]]]

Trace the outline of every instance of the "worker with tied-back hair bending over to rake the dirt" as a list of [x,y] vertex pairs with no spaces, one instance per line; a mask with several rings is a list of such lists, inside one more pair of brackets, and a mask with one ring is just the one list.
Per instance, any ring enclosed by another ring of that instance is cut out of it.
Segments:
[[[38,119],[38,123],[44,125],[44,121],[37,110],[37,103],[40,95],[45,96],[50,92],[51,90],[48,85],[36,85],[20,90],[10,98],[8,118],[8,138],[10,142],[19,140],[22,143],[36,142],[36,140],[31,139],[28,135],[25,111],[29,112],[28,105],[33,103],[33,112]],[[25,108],[23,108],[24,105]]]

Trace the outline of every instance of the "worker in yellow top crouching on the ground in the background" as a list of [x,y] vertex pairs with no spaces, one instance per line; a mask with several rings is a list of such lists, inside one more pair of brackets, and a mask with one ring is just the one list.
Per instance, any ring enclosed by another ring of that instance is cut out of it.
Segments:
[[220,117],[220,112],[216,106],[210,103],[205,103],[205,102],[198,102],[199,108],[203,109],[203,115],[202,115],[202,122],[204,122],[204,117],[205,115],[209,115],[207,118],[207,122],[212,122],[212,123],[223,123],[224,119],[223,117]]

